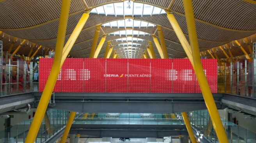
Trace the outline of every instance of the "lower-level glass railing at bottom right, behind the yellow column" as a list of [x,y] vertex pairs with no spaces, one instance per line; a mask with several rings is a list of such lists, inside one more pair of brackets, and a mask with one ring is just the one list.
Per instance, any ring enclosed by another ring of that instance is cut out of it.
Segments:
[[[197,135],[202,135],[211,143],[219,143],[215,130],[207,110],[199,110],[188,113],[191,126],[197,130]],[[256,133],[238,126],[233,122],[221,119],[223,127],[228,136],[229,143],[256,143]]]

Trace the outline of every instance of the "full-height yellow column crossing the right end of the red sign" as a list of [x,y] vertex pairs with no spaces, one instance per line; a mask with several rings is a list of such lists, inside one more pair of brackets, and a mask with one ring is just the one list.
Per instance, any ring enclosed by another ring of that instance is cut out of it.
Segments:
[[194,61],[194,71],[196,73],[197,81],[201,88],[203,98],[204,98],[206,107],[208,108],[210,117],[212,119],[213,127],[215,129],[217,137],[220,143],[228,143],[226,132],[220,120],[219,112],[217,110],[215,101],[212,96],[212,92],[210,90],[209,84],[205,77],[203,66],[201,63],[192,0],[183,0],[183,6],[184,6],[185,17],[187,21],[188,35],[189,35],[192,56]]

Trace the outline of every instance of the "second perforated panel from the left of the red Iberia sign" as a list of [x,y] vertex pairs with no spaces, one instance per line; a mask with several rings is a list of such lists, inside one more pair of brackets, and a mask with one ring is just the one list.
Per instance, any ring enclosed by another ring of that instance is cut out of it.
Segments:
[[61,68],[61,91],[84,92],[84,59],[67,58]]

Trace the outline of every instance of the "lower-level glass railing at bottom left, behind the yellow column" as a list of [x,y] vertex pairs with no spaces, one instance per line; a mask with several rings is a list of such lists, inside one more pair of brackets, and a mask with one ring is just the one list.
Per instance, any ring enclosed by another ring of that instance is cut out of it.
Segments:
[[[68,115],[68,111],[56,109],[48,110],[47,115],[44,115],[44,119],[35,142],[43,143],[59,132],[63,127],[66,126]],[[0,131],[0,143],[24,142],[32,120],[33,118],[22,121],[14,126]]]

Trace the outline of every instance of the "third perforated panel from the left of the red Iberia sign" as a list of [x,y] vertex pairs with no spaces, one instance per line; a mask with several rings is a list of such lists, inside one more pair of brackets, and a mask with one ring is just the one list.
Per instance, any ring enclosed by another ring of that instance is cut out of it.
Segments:
[[85,92],[105,92],[106,59],[84,59]]

